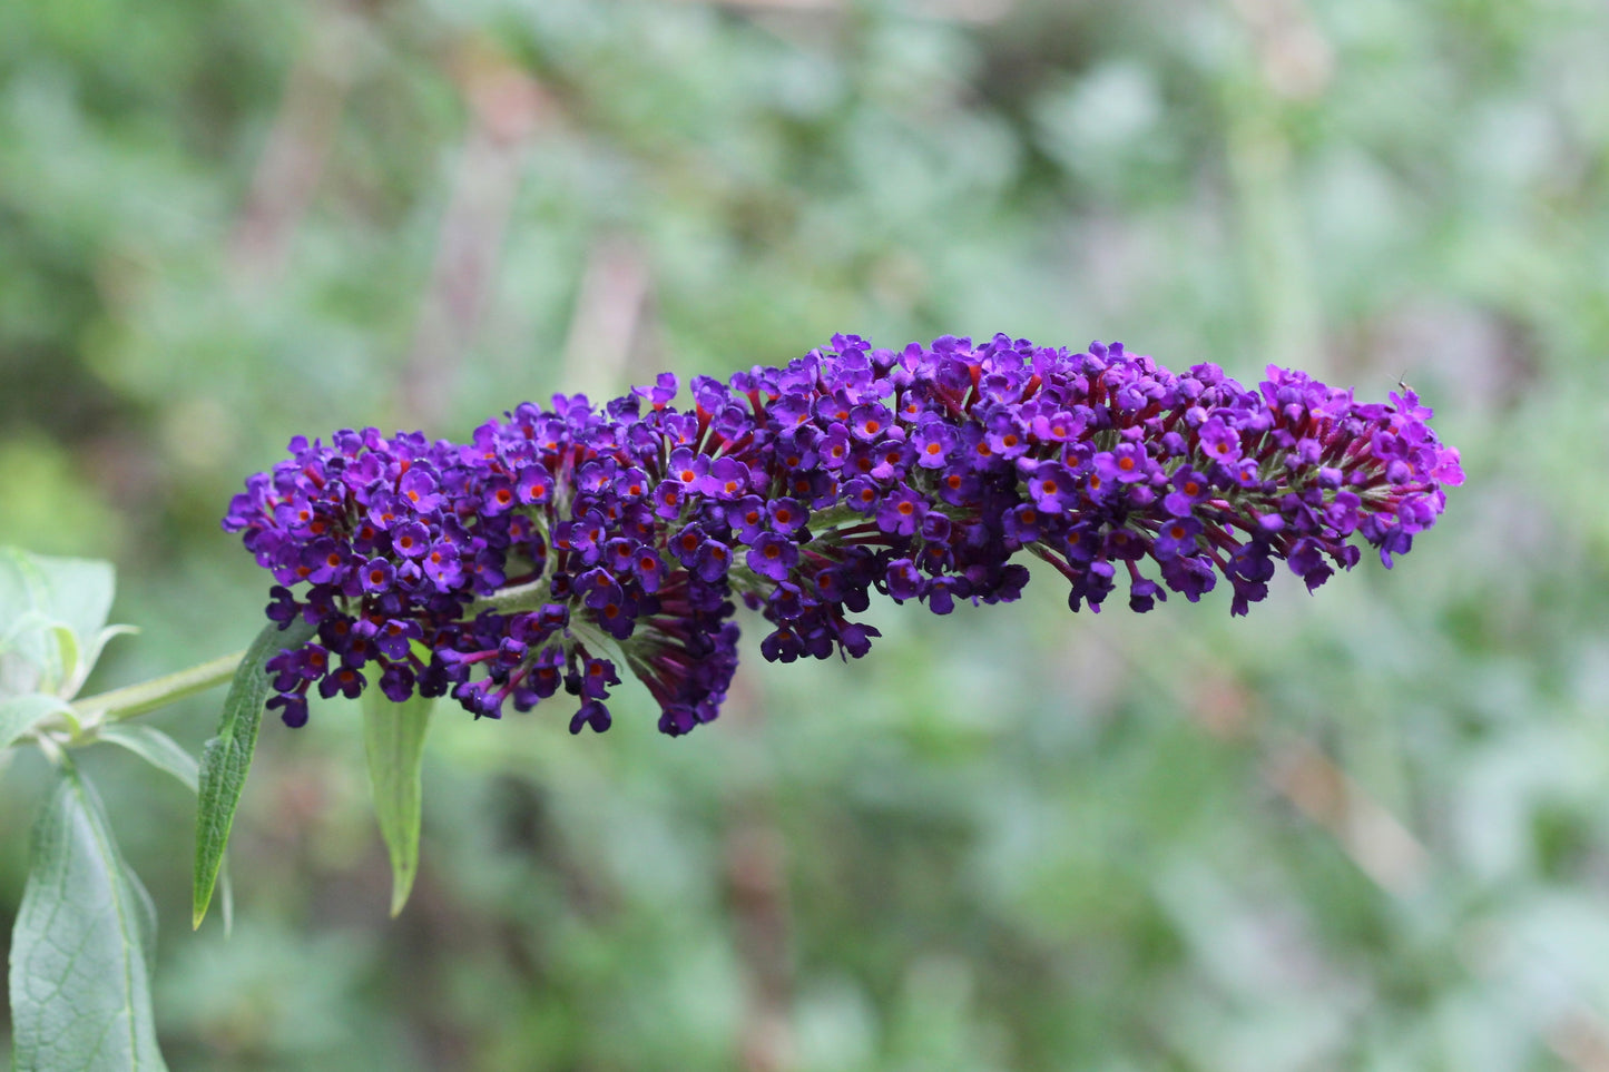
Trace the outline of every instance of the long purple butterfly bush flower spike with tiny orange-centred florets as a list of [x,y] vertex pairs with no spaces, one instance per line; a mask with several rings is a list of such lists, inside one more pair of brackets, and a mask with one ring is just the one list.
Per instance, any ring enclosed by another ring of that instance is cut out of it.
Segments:
[[940,615],[1014,600],[1018,552],[1073,610],[1125,581],[1138,612],[1228,583],[1241,615],[1279,560],[1311,591],[1361,536],[1390,567],[1463,480],[1406,388],[1360,404],[1278,367],[1244,388],[1118,343],[840,335],[689,388],[528,402],[470,443],[291,441],[224,518],[277,579],[269,618],[317,626],[270,662],[270,707],[299,726],[312,691],[380,687],[499,718],[563,691],[571,732],[603,731],[629,671],[679,736],[719,711],[737,602],[784,663],[864,655],[874,591]]

